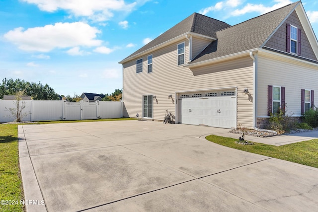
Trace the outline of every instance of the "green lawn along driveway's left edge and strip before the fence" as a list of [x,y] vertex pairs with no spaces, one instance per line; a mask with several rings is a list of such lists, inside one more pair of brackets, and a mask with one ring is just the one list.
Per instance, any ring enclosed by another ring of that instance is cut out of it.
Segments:
[[[120,118],[120,119],[97,119],[97,120],[78,120],[78,121],[45,121],[45,122],[39,122],[39,124],[121,121],[121,120],[136,120],[136,119]],[[20,205],[20,204],[6,205],[2,203],[3,201],[6,201],[6,203],[10,203],[11,201],[17,201],[17,203],[20,203],[20,200],[24,199],[21,173],[19,170],[18,127],[17,126],[18,126],[17,124],[0,125],[0,212],[23,212],[24,211],[23,205]]]

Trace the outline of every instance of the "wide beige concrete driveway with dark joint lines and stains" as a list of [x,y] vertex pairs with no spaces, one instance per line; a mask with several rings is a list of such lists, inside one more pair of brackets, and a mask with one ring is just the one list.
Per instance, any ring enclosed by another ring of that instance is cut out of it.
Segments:
[[[318,169],[151,121],[19,126],[29,212],[318,211]],[[30,202],[31,201],[31,202]]]

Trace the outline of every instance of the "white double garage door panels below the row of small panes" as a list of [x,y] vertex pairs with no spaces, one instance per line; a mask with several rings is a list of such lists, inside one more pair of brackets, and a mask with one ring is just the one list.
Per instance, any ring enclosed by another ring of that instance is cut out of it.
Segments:
[[[236,96],[179,99],[179,122],[190,125],[236,128]],[[181,109],[181,110],[180,110]]]

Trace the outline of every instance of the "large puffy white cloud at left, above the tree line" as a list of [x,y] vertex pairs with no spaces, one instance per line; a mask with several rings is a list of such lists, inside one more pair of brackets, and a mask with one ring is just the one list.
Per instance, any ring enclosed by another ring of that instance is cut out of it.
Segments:
[[102,41],[96,39],[97,33],[101,32],[83,22],[55,23],[27,30],[15,28],[4,34],[4,38],[24,51],[49,52],[55,48],[99,46]]

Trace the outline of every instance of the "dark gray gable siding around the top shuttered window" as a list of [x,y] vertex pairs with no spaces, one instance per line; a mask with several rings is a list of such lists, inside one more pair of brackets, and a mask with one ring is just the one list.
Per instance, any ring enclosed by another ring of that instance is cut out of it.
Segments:
[[307,35],[304,31],[303,26],[301,25],[301,22],[299,20],[299,17],[296,11],[293,11],[293,13],[286,19],[286,21],[282,24],[282,26],[279,27],[279,29],[275,32],[275,34],[268,40],[268,42],[264,46],[286,52],[286,43],[287,43],[286,42],[286,25],[287,24],[296,26],[302,32],[301,33],[302,46],[301,46],[300,56],[317,61],[315,53],[312,49],[312,46],[309,43]]

